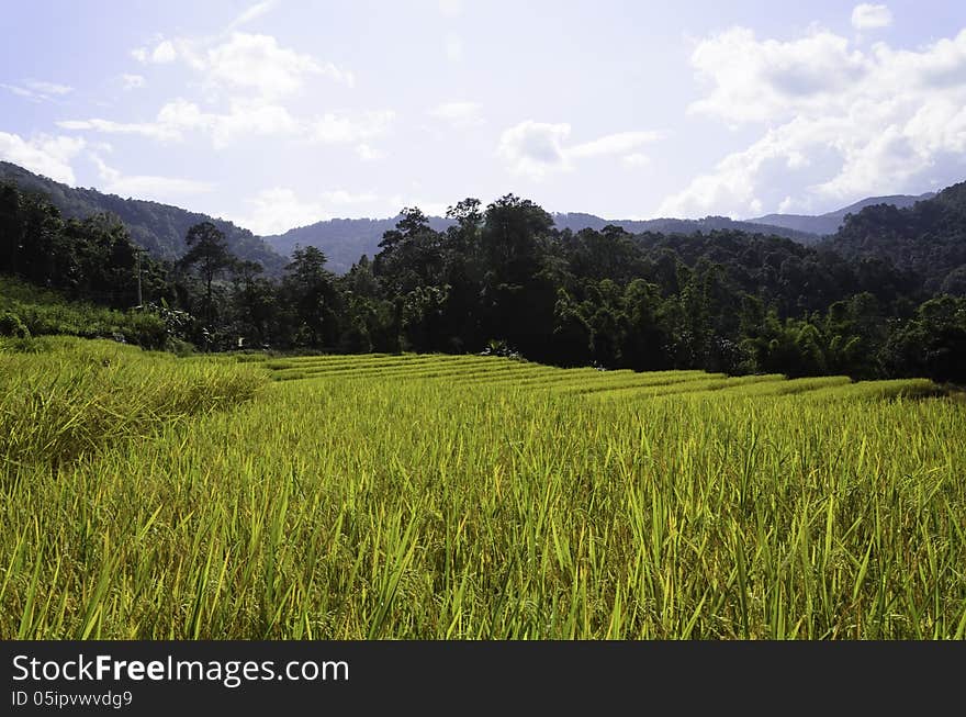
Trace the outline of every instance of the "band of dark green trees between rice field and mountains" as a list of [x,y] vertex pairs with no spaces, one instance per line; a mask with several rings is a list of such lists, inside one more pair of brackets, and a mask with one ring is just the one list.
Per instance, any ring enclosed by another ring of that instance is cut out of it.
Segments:
[[[867,236],[867,211],[846,222],[847,239]],[[404,209],[379,253],[342,276],[321,249],[296,247],[273,279],[234,257],[210,222],[188,231],[181,259],[160,261],[116,220],[65,221],[42,194],[5,184],[0,272],[71,298],[139,304],[165,320],[171,341],[204,350],[491,351],[569,367],[966,383],[966,299],[939,291],[958,285],[945,265],[937,287],[922,261],[846,257],[834,243],[561,231],[513,194],[485,206],[468,198],[447,216],[453,224],[435,231]],[[890,250],[895,243],[896,232]],[[951,253],[942,256],[948,264]]]

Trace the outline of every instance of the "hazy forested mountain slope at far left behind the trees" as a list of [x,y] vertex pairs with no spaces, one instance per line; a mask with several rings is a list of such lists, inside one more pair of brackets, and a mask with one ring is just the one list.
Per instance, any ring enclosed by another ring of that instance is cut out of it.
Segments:
[[96,189],[68,187],[7,161],[0,161],[0,182],[2,181],[13,182],[21,190],[47,194],[65,219],[83,220],[99,213],[113,214],[127,228],[135,244],[159,259],[180,258],[187,248],[184,236],[188,228],[209,221],[224,233],[233,254],[248,261],[257,261],[268,273],[279,273],[288,261],[248,229],[206,214],[189,212],[170,204],[122,199]]

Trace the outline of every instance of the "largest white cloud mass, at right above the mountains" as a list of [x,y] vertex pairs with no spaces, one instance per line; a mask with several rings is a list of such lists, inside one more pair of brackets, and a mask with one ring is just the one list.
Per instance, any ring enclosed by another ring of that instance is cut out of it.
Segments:
[[762,134],[666,198],[660,214],[828,210],[962,178],[966,31],[916,51],[862,52],[828,31],[779,42],[732,29],[699,43],[692,63],[710,85],[692,111]]

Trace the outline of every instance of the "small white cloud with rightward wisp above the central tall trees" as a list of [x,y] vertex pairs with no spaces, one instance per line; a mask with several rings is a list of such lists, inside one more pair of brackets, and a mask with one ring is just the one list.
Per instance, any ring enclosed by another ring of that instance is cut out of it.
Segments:
[[547,124],[527,120],[503,133],[497,154],[510,171],[542,179],[550,172],[572,169],[575,159],[591,157],[620,155],[626,164],[639,166],[647,158],[634,150],[662,136],[658,132],[618,132],[591,142],[568,145],[570,132],[571,126],[565,123]]

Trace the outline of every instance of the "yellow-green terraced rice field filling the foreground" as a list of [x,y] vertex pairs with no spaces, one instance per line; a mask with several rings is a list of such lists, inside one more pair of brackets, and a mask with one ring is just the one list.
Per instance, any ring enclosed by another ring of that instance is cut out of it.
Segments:
[[0,386],[4,639],[966,636],[929,381],[63,339]]

